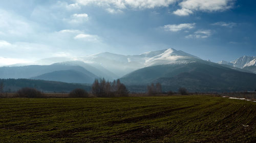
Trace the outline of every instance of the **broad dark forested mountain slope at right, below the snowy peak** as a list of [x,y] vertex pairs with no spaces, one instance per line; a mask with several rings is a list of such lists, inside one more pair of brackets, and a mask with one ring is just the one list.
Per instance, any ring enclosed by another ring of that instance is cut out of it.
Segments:
[[120,80],[127,85],[160,82],[169,90],[177,90],[179,87],[185,87],[189,91],[254,91],[256,89],[256,74],[203,61],[146,67]]

